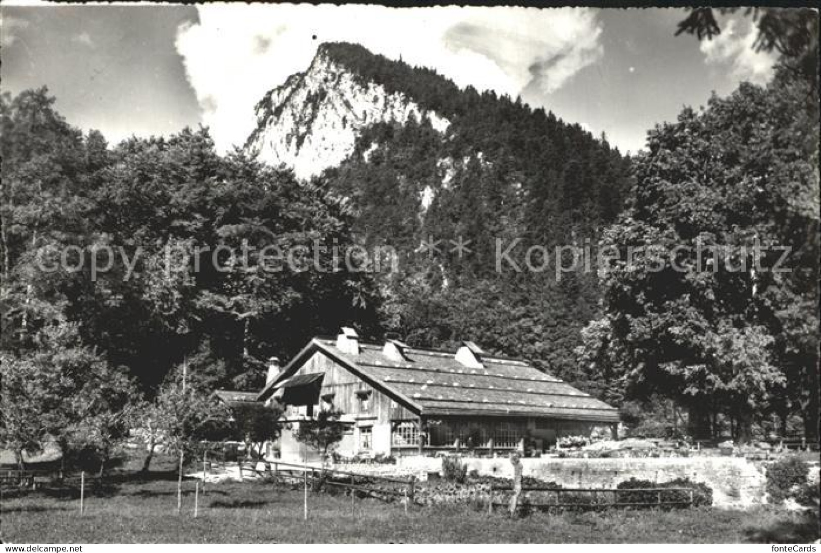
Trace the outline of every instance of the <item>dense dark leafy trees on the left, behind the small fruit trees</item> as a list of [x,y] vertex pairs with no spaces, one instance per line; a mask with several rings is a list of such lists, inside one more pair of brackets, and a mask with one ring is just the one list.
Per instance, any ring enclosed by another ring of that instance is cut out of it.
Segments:
[[[254,389],[269,355],[374,319],[364,273],[258,270],[266,245],[351,242],[324,190],[218,156],[207,130],[110,148],[53,101],[2,99],[3,351],[42,353],[44,331],[71,327],[144,391],[186,356],[214,386]],[[246,259],[215,252],[243,243]]]

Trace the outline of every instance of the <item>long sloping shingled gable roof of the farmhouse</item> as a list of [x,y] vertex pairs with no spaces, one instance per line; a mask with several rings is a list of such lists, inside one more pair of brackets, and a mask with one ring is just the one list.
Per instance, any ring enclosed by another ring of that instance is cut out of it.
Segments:
[[615,423],[619,416],[603,401],[576,390],[521,359],[483,354],[484,368],[468,368],[454,354],[407,348],[406,362],[389,359],[382,345],[360,343],[360,354],[343,353],[335,340],[314,338],[259,394],[296,372],[316,351],[342,364],[392,400],[424,416],[510,416]]

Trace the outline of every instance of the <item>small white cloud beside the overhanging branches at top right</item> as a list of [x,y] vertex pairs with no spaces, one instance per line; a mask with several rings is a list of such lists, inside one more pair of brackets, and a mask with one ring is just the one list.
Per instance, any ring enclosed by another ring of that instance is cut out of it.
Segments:
[[758,30],[748,20],[729,19],[722,25],[722,32],[711,40],[701,42],[704,61],[727,67],[737,80],[749,80],[764,85],[773,76],[775,54],[756,52],[753,48]]

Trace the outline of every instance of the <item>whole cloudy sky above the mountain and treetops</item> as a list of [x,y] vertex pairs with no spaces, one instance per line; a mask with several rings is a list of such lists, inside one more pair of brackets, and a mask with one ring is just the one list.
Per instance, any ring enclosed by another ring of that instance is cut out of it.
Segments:
[[742,80],[766,83],[774,62],[750,48],[754,29],[741,16],[699,43],[674,36],[685,11],[663,8],[26,2],[0,14],[4,93],[46,85],[67,121],[112,143],[208,126],[220,151],[245,143],[255,103],[305,70],[323,42],[521,96],[633,153],[682,107]]

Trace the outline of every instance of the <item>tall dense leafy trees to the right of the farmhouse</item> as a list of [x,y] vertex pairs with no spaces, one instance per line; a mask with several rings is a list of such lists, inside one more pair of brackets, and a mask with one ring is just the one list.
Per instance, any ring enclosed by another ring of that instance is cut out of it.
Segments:
[[610,400],[663,394],[704,436],[817,436],[818,139],[817,88],[786,69],[650,131],[602,239],[643,254],[603,276],[579,350]]

